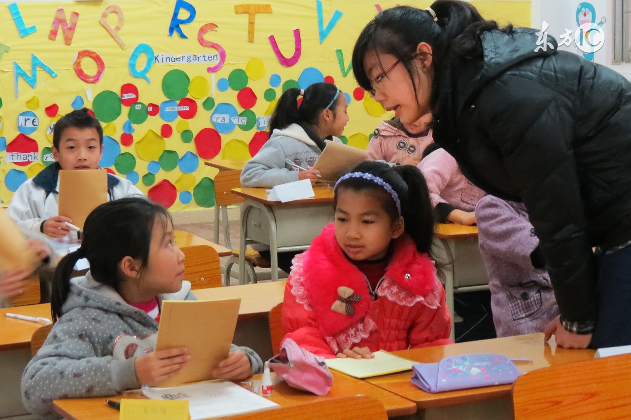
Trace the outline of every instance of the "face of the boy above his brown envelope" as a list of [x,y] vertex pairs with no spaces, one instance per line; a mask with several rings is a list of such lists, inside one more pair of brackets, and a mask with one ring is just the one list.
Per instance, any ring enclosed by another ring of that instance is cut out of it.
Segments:
[[93,128],[68,127],[61,133],[59,150],[52,146],[52,157],[64,170],[98,169],[103,147]]

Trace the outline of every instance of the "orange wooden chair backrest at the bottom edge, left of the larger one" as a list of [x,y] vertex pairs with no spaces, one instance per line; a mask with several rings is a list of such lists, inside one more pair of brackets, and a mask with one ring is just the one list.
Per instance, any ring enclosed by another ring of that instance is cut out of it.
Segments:
[[386,420],[387,418],[384,406],[379,400],[368,395],[325,398],[307,405],[293,405],[225,417],[226,420]]

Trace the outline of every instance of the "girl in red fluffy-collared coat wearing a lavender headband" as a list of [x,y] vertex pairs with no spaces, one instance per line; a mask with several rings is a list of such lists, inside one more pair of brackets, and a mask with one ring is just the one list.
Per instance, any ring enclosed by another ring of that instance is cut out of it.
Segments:
[[293,260],[283,327],[324,357],[449,344],[429,257],[432,204],[415,166],[364,162],[335,185],[335,222]]

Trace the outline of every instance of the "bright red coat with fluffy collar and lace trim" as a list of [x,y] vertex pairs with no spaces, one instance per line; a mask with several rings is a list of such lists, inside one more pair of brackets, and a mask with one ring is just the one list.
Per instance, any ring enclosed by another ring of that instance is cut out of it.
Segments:
[[[339,247],[333,223],[326,226],[293,260],[283,301],[285,337],[325,357],[351,347],[394,351],[451,343],[445,290],[432,260],[416,251],[408,235],[392,245],[392,261],[372,300],[365,276]],[[353,315],[331,310],[340,286],[361,296],[348,302]]]

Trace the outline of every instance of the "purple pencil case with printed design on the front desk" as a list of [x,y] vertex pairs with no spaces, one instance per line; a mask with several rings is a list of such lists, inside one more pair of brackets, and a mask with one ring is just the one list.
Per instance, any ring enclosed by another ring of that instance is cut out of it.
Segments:
[[499,354],[465,354],[439,363],[415,363],[412,370],[412,383],[432,394],[504,385],[520,375],[515,364]]

